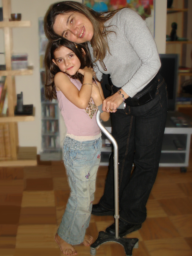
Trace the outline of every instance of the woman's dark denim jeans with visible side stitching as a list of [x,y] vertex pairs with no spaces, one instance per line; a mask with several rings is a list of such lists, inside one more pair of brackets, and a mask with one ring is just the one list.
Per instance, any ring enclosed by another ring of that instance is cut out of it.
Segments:
[[[111,113],[112,135],[119,147],[119,210],[124,222],[139,224],[146,219],[145,205],[157,176],[167,109],[166,83],[159,74],[153,100]],[[114,209],[113,187],[112,153],[99,202],[106,209]]]

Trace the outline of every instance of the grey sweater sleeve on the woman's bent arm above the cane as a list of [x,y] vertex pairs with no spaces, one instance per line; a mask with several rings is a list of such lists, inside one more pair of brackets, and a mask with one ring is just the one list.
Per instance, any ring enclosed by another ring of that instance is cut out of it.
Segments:
[[127,9],[122,9],[118,22],[118,28],[124,33],[125,40],[133,47],[141,61],[140,67],[135,70],[131,79],[122,86],[122,89],[133,97],[154,78],[161,63],[154,38],[137,12],[130,9],[127,12]]

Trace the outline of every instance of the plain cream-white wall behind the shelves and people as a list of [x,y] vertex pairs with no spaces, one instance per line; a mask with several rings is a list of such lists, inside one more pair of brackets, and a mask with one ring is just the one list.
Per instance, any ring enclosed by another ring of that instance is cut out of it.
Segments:
[[[57,0],[12,0],[12,13],[21,13],[22,20],[31,20],[31,28],[13,29],[13,51],[27,52],[29,64],[34,67],[32,76],[16,77],[16,93],[23,91],[23,104],[33,104],[35,107],[35,121],[19,122],[19,145],[37,146],[38,154],[41,150],[41,99],[38,45],[38,17],[44,17],[47,9]],[[79,0],[81,2],[81,0]],[[2,2],[0,0],[0,6]],[[3,32],[0,31],[0,38]],[[166,49],[166,0],[156,0],[155,9],[155,40],[159,53]],[[4,52],[3,40],[0,40],[0,52]],[[0,64],[4,64],[0,55]],[[60,118],[60,120],[62,120]],[[61,121],[62,122],[62,121]],[[64,125],[60,125],[61,140]]]

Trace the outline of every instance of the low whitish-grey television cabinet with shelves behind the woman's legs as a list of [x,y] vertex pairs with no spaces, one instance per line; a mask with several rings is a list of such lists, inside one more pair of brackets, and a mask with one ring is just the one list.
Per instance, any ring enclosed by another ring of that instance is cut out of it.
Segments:
[[[186,127],[182,125],[176,126],[172,121],[172,117],[180,117],[186,120]],[[111,123],[103,122],[105,128],[111,132]],[[181,172],[186,172],[186,167],[189,165],[190,140],[192,134],[192,119],[189,116],[177,111],[168,112],[166,128],[163,136],[163,145],[161,149],[160,164],[164,167],[181,167]],[[175,141],[179,141],[181,148],[177,148]],[[104,134],[102,134],[102,166],[108,166],[109,156],[111,154],[111,144]]]

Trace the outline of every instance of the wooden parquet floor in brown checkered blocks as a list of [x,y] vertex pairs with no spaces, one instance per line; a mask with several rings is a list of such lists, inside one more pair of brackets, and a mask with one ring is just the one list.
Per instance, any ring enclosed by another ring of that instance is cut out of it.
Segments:
[[[0,168],[0,256],[61,256],[54,235],[70,189],[61,162],[35,167]],[[102,196],[107,167],[100,166],[95,200]],[[148,216],[137,237],[133,256],[192,256],[192,160],[186,173],[160,168],[147,203]],[[113,216],[91,215],[87,233],[96,239]],[[78,256],[90,248],[76,246]],[[102,244],[98,256],[125,256],[121,245]]]

